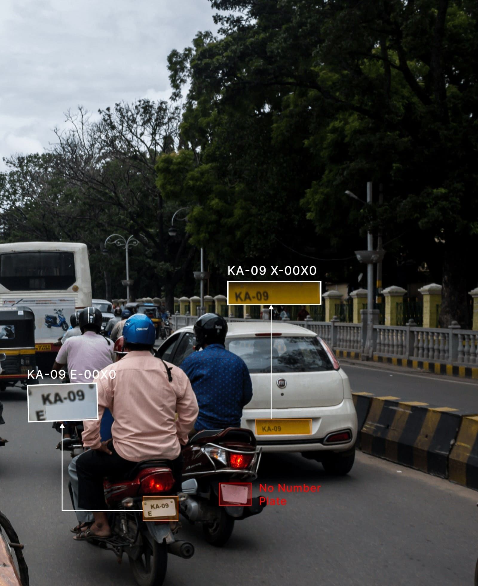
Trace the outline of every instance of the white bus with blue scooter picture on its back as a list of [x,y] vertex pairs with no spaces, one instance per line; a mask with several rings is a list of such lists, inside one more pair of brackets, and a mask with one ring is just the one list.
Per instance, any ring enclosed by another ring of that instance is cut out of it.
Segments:
[[32,309],[37,357],[45,353],[42,357],[51,362],[60,348],[57,340],[70,326],[70,315],[91,305],[86,244],[0,244],[0,307],[16,305]]

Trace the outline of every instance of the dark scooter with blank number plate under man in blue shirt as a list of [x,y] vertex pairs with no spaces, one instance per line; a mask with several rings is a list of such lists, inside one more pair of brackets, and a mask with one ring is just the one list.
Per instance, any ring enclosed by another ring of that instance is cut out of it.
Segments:
[[199,431],[183,448],[182,492],[187,498],[179,502],[179,512],[190,523],[201,523],[213,546],[222,547],[236,521],[265,507],[259,497],[252,498],[248,485],[257,478],[261,451],[252,431],[233,427]]

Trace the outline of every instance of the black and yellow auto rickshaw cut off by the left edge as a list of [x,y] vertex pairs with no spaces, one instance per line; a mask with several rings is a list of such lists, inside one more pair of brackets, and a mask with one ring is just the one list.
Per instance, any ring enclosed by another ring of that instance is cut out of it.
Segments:
[[29,307],[0,309],[0,353],[5,354],[0,374],[0,391],[16,383],[35,384],[35,314]]

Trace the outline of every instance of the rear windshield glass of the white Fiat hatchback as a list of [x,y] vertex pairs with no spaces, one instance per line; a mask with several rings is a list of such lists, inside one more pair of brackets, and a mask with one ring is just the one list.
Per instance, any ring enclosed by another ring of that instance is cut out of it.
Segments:
[[[226,340],[230,352],[240,356],[249,372],[270,372],[270,338]],[[333,364],[317,337],[272,338],[272,372],[320,372],[333,370]]]

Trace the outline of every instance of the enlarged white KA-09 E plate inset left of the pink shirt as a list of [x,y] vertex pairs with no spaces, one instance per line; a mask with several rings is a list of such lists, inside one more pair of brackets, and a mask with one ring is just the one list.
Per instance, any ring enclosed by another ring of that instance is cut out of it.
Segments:
[[29,384],[28,421],[98,419],[96,383]]

